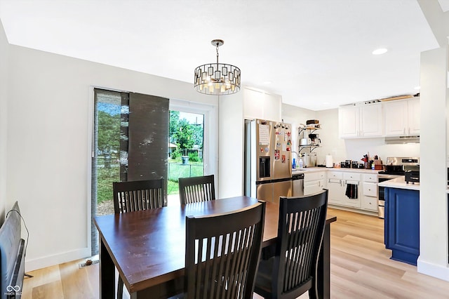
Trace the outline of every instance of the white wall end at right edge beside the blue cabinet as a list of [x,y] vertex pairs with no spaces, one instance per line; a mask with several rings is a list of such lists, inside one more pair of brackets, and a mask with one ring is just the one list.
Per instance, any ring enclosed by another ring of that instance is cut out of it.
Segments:
[[449,281],[446,138],[448,45],[421,53],[420,257],[418,272]]

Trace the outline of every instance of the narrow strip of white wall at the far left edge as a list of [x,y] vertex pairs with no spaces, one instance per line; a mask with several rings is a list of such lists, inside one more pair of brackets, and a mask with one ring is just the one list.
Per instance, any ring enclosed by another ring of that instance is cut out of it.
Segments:
[[6,208],[12,206],[6,200],[6,142],[8,110],[8,40],[0,21],[0,225]]

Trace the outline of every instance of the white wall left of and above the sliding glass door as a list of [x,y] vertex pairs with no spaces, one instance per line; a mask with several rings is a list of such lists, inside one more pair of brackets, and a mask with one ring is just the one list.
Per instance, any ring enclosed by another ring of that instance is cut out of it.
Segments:
[[20,202],[27,221],[30,271],[90,255],[92,86],[209,105],[217,100],[185,82],[9,49],[7,196]]

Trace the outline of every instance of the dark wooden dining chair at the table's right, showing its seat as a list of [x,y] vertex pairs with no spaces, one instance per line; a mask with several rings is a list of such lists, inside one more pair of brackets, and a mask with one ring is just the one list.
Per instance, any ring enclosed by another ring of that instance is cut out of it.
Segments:
[[318,298],[316,265],[323,240],[328,190],[307,197],[281,197],[276,251],[260,260],[255,293],[263,298]]

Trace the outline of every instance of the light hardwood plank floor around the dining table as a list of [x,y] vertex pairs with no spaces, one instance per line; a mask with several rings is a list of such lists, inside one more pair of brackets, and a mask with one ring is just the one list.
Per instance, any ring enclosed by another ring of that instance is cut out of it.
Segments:
[[[337,216],[330,225],[331,298],[449,298],[449,282],[389,259],[382,219],[335,209],[328,213]],[[79,269],[85,260],[29,272],[34,277],[25,278],[22,298],[98,298],[98,265]]]

